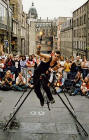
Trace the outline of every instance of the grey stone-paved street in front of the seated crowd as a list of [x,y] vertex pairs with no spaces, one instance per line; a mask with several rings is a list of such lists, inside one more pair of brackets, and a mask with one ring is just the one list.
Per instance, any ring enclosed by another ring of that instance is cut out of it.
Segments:
[[[22,92],[0,91],[1,122],[8,118],[21,94]],[[61,96],[66,101],[64,95]],[[89,134],[89,99],[79,95],[68,97],[78,120]],[[54,98],[56,103],[50,105],[49,111],[46,104],[43,108],[40,106],[39,100],[32,91],[16,115],[20,128],[7,131],[0,129],[0,140],[88,140],[89,137],[78,134],[74,119],[58,96],[54,95]]]

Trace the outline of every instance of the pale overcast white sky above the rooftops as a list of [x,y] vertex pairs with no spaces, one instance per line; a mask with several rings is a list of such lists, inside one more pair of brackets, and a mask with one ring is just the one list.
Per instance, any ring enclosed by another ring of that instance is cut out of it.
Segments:
[[23,10],[28,13],[32,2],[37,10],[38,17],[53,19],[54,17],[71,17],[74,10],[88,0],[22,0]]

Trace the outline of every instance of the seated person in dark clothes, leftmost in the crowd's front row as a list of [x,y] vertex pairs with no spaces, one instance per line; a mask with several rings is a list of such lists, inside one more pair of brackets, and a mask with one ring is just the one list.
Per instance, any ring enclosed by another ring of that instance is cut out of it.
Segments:
[[4,78],[2,79],[0,88],[5,91],[12,89],[12,74],[10,70],[6,72]]

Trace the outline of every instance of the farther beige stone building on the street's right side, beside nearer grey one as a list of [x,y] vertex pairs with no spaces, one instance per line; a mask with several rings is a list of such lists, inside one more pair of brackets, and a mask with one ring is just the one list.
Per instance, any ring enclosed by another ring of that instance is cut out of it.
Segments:
[[61,32],[60,32],[60,51],[61,54],[69,57],[72,55],[72,37],[73,32],[73,23],[72,18],[67,20],[65,23],[61,26]]

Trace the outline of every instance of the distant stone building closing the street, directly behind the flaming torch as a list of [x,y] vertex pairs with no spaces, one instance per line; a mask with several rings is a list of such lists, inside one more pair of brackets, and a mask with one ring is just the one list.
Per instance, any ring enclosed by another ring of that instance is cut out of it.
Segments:
[[54,48],[54,37],[57,35],[57,26],[54,20],[38,19],[36,22],[36,45],[42,46],[43,53],[50,53]]

